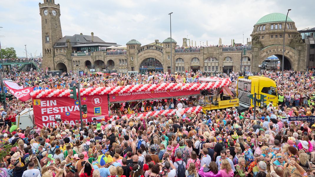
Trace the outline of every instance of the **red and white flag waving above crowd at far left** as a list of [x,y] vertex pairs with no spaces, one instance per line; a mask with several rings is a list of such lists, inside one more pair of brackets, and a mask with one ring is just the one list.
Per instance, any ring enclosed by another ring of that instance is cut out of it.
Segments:
[[[4,81],[5,85],[7,86],[9,92],[11,92],[14,97],[16,97],[17,99],[21,100],[22,102],[25,102],[29,99],[31,99],[31,95],[30,93],[33,91],[34,87],[26,87],[26,88],[19,88],[19,87],[16,87],[18,86],[16,83],[14,82],[8,82],[8,81]],[[12,84],[16,84],[16,86],[12,85]],[[17,89],[14,89],[10,86],[14,86],[16,87]]]

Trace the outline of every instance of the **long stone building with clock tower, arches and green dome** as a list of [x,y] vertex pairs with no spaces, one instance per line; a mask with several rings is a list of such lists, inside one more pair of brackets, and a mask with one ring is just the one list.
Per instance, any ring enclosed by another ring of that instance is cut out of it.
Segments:
[[[39,9],[42,19],[42,67],[48,70],[89,72],[90,69],[95,69],[116,70],[118,73],[127,71],[170,73],[172,61],[173,72],[258,72],[269,56],[275,55],[282,63],[283,37],[284,68],[304,71],[308,64],[306,44],[302,41],[292,19],[288,17],[287,25],[284,26],[286,18],[284,14],[272,13],[259,19],[254,25],[252,40],[246,47],[177,48],[179,44],[168,37],[163,42],[155,40],[146,45],[132,39],[126,43],[126,50],[108,52],[106,47],[120,45],[105,42],[94,36],[93,32],[91,35],[81,33],[62,36],[60,5],[55,4],[54,0],[44,0],[44,3],[39,3]],[[285,36],[284,28],[287,28]],[[184,38],[183,46],[185,45],[187,44]],[[246,54],[242,57],[244,48]]]

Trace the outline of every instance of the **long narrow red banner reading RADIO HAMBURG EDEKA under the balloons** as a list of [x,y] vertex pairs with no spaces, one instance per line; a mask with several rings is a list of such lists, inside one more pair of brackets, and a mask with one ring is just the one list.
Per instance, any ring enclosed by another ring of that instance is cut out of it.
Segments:
[[109,102],[125,102],[141,99],[159,99],[168,97],[180,97],[189,95],[198,95],[200,90],[152,90],[152,91],[135,91],[129,93],[116,93],[109,95]]

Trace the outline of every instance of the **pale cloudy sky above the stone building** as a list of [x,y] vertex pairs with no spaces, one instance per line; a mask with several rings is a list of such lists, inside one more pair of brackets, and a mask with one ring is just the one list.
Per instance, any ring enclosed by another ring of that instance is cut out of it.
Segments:
[[[14,47],[18,56],[27,52],[42,53],[41,16],[38,3],[43,0],[7,0],[0,5],[0,40],[4,47]],[[169,15],[172,14],[172,38],[182,45],[182,38],[197,45],[244,42],[255,23],[270,13],[286,14],[298,30],[315,27],[311,7],[314,1],[293,0],[55,0],[60,4],[63,36],[83,33],[100,37],[106,42],[125,45],[136,39],[142,45],[163,41],[170,36]],[[2,37],[1,37],[2,36]],[[4,36],[4,37],[3,37]],[[195,42],[194,42],[195,43]]]

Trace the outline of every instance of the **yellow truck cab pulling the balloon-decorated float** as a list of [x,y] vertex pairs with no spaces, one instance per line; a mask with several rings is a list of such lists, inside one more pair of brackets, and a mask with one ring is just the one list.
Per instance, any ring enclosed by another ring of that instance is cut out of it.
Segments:
[[[266,101],[268,105],[273,102],[274,106],[278,105],[278,93],[276,82],[270,78],[264,76],[245,76],[238,77],[237,82],[237,97],[239,99],[239,105],[248,108],[249,106],[254,107],[253,99],[250,99],[247,95],[257,94],[257,99],[260,99],[260,95],[266,95]],[[263,107],[264,104],[261,102],[257,103],[256,106]]]

